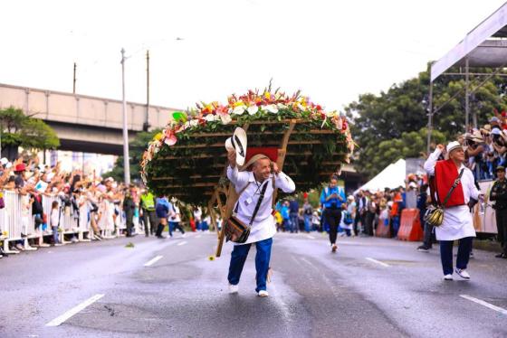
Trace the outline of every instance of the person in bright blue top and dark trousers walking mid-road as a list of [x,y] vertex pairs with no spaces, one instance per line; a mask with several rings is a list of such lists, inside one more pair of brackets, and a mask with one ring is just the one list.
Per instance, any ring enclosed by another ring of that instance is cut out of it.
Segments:
[[320,193],[320,204],[324,208],[324,220],[330,226],[331,252],[336,252],[338,249],[336,237],[341,220],[341,203],[345,200],[345,192],[338,186],[338,176],[332,175],[330,184]]

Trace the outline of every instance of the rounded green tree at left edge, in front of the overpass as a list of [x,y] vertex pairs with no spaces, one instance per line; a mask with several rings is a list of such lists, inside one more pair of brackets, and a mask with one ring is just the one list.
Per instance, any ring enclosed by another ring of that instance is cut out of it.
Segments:
[[27,149],[55,149],[60,141],[52,127],[43,120],[24,115],[22,109],[0,109],[2,146],[23,146]]

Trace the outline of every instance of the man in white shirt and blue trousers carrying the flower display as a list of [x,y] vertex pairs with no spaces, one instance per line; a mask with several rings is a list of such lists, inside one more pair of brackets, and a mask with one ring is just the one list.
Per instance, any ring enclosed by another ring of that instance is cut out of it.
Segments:
[[[245,224],[252,224],[250,236],[243,244],[234,243],[229,265],[229,292],[238,292],[238,283],[244,267],[244,261],[248,251],[255,243],[257,250],[255,254],[255,269],[257,271],[257,287],[255,291],[258,296],[269,296],[266,290],[266,279],[271,258],[273,235],[276,233],[276,226],[273,218],[273,192],[281,189],[283,192],[293,192],[296,188],[292,179],[283,174],[275,163],[272,163],[267,155],[253,155],[244,164],[247,171],[240,171],[236,165],[236,154],[229,151],[229,166],[227,177],[234,184],[236,192],[242,192],[236,202],[236,217]],[[262,193],[263,192],[263,193]],[[262,202],[255,213],[257,203],[263,195]]]

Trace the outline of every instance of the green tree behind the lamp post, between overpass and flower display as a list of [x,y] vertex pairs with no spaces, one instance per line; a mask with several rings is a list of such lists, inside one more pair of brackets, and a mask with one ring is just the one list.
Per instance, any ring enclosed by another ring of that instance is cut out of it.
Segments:
[[[151,132],[139,132],[136,137],[129,142],[129,157],[130,157],[130,180],[132,181],[140,181],[140,162],[142,155],[146,148],[148,147],[148,142],[153,139],[153,136],[157,134],[160,130],[154,130]],[[119,156],[114,164],[114,168],[109,172],[105,173],[103,177],[112,177],[115,181],[123,182],[124,179],[124,166],[123,166],[123,156]]]

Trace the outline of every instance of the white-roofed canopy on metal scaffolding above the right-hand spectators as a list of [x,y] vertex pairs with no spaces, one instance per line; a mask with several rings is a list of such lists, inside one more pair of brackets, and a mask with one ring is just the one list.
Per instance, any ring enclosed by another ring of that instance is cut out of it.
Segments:
[[[464,39],[459,42],[454,48],[447,52],[444,57],[436,61],[431,66],[431,78],[429,87],[429,113],[428,113],[428,134],[427,134],[427,150],[431,142],[432,121],[433,115],[438,112],[447,102],[457,96],[460,92],[456,93],[453,98],[448,99],[442,106],[433,108],[433,82],[442,75],[464,75],[465,77],[465,127],[469,126],[470,116],[470,67],[487,67],[497,68],[491,74],[473,74],[485,75],[487,78],[483,80],[474,91],[480,88],[483,83],[490,79],[493,75],[498,75],[498,72],[507,66],[507,41],[502,40],[507,37],[507,3],[503,4],[493,14],[486,18],[482,23],[479,23],[470,33],[467,33]],[[454,66],[464,66],[464,73],[449,73],[445,71]],[[477,127],[477,118],[473,116],[474,127]]]

